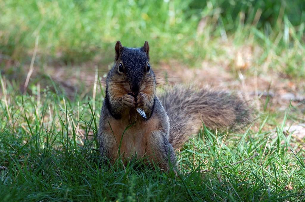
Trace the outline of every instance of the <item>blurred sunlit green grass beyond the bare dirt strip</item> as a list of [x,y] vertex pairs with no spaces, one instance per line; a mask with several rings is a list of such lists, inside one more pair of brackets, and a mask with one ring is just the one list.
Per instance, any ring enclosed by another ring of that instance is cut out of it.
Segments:
[[[192,65],[207,54],[211,58],[215,50],[210,47],[219,47],[212,40],[227,35],[237,43],[254,35],[268,51],[275,42],[278,56],[295,46],[301,49],[295,51],[297,58],[304,53],[303,0],[5,0],[0,13],[2,58],[21,63],[30,61],[38,36],[38,64],[93,58],[109,63],[116,40],[124,46],[142,46],[148,40],[153,62],[173,58]],[[293,74],[304,72],[301,61],[292,63],[297,69]]]

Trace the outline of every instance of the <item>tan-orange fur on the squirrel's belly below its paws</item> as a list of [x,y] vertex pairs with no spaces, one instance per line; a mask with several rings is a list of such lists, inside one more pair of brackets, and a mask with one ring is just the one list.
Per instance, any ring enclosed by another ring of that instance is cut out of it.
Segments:
[[159,121],[153,117],[143,121],[138,116],[131,125],[132,122],[130,117],[109,120],[111,128],[110,126],[107,128],[107,134],[112,137],[108,138],[114,139],[114,145],[108,145],[110,158],[117,157],[119,148],[120,154],[123,154],[124,158],[141,158],[153,154],[152,144],[158,137],[152,136],[152,134],[154,131],[160,130]]

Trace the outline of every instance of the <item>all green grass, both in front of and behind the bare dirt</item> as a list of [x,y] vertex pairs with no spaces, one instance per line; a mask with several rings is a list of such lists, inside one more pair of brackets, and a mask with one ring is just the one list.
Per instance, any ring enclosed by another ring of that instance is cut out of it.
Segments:
[[[304,94],[304,7],[301,0],[0,1],[0,198],[305,201],[305,139],[283,131],[304,122],[303,102],[287,104],[283,114],[262,101],[244,132],[203,128],[177,152],[175,176],[143,159],[102,163],[96,140],[102,86],[93,94],[80,80],[71,96],[47,73],[78,68],[66,75],[78,79],[94,66],[107,69],[116,40],[124,46],[148,40],[154,67],[181,70],[204,61],[236,79],[279,75]],[[34,74],[22,93],[35,41]],[[235,53],[244,47],[253,50],[252,61],[240,70]]]

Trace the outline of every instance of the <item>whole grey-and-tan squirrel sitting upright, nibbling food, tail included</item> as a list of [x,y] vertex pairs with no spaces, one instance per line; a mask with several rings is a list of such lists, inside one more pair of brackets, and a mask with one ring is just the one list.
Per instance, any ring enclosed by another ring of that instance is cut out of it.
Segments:
[[251,121],[251,109],[234,94],[177,87],[158,98],[156,87],[148,42],[128,48],[117,41],[99,120],[102,157],[112,163],[119,157],[125,163],[145,157],[146,163],[168,170],[176,163],[175,151],[202,123],[212,129],[241,129]]

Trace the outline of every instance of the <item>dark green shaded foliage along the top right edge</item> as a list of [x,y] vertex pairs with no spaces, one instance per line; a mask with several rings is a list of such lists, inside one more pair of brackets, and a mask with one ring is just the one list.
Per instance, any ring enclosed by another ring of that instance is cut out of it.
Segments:
[[[190,9],[205,9],[208,5],[221,9],[223,22],[228,30],[236,29],[236,20],[240,14],[244,13],[245,22],[251,24],[257,11],[261,12],[258,28],[270,24],[272,27],[280,26],[279,21],[286,15],[293,26],[299,26],[305,21],[305,1],[285,1],[285,0],[194,0],[190,3]],[[279,19],[280,18],[280,19]]]

